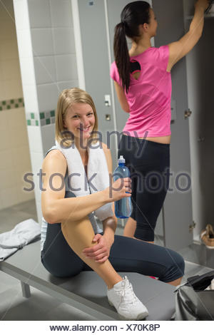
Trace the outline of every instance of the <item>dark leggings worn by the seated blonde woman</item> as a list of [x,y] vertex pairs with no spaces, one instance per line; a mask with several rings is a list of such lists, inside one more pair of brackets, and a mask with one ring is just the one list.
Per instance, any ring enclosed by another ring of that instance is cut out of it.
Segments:
[[[66,197],[72,196],[66,192]],[[183,257],[177,252],[119,235],[115,235],[108,259],[117,272],[137,272],[158,277],[162,282],[173,282],[184,273]],[[48,224],[41,262],[56,277],[73,277],[91,270],[66,242],[61,223]]]

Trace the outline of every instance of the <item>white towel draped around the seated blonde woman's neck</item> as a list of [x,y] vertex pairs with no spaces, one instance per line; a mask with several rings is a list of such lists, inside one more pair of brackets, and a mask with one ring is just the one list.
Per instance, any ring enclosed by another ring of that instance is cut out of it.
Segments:
[[[70,176],[69,187],[76,197],[89,195],[109,187],[106,155],[101,145],[99,145],[99,142],[93,145],[91,144],[90,148],[88,148],[87,175],[81,160],[81,155],[74,143],[71,145],[71,148],[65,148],[56,142],[56,147],[66,158],[68,176]],[[111,217],[113,215],[111,203],[103,205],[94,213],[101,221],[107,217]]]

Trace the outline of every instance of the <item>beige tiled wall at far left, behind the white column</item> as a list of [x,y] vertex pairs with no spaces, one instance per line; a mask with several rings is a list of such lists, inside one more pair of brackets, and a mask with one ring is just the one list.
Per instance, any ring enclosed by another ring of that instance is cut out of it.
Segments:
[[12,0],[0,1],[0,210],[34,198]]

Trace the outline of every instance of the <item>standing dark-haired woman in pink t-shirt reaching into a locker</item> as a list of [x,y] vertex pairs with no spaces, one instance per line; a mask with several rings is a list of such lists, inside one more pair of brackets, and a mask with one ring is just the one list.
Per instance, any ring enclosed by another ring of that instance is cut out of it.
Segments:
[[[121,108],[129,113],[118,150],[132,179],[133,212],[124,230],[127,237],[154,241],[169,183],[170,71],[198,42],[208,6],[208,0],[198,0],[188,33],[160,48],[151,46],[158,23],[146,1],[127,4],[116,26],[111,78]],[[132,41],[129,51],[126,36]]]

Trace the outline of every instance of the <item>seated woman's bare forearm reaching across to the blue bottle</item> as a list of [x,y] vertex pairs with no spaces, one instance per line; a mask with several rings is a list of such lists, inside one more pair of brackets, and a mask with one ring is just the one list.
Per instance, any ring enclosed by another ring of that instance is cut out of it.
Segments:
[[[45,202],[42,208],[44,219],[49,223],[77,221],[109,202],[106,190],[85,195],[68,197]],[[43,203],[43,202],[42,202]]]

